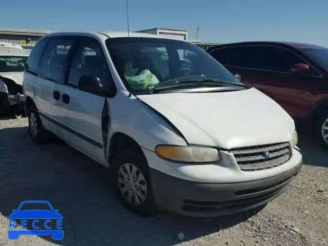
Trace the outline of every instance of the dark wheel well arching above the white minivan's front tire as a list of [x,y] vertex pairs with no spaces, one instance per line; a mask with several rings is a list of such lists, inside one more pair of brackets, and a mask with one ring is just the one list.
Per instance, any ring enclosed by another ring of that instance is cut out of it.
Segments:
[[121,132],[114,133],[111,137],[110,145],[109,145],[109,150],[110,150],[108,155],[109,167],[112,165],[115,154],[117,154],[122,150],[127,150],[127,149],[138,150],[140,151],[140,153],[142,153],[142,155],[144,155],[144,152],[142,152],[141,147],[132,137]]

